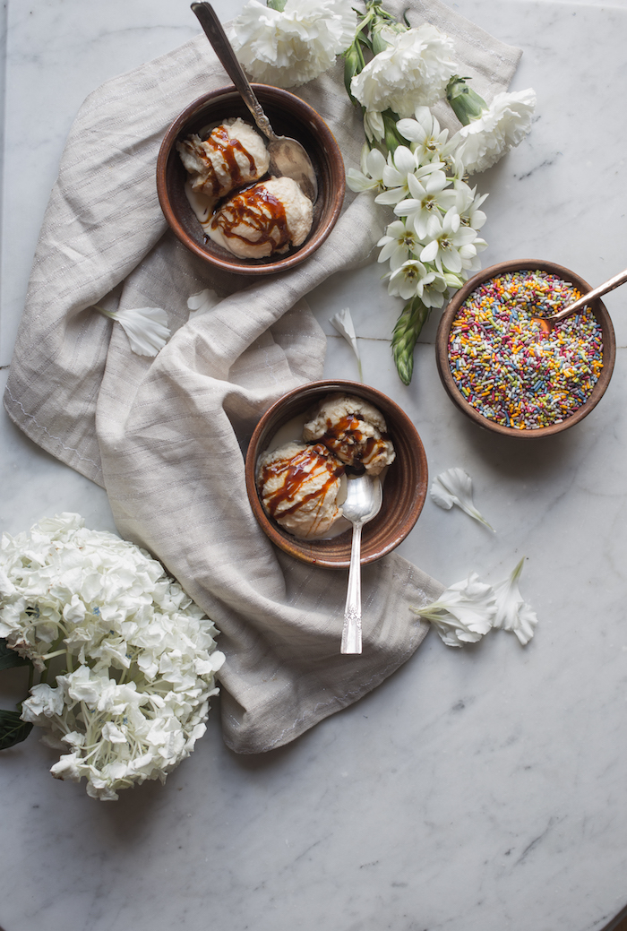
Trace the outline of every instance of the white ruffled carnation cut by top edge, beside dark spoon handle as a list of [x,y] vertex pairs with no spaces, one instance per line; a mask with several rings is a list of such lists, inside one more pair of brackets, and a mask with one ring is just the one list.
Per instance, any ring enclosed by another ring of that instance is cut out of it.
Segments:
[[247,73],[262,84],[295,88],[323,74],[354,40],[350,0],[248,0],[230,36]]

